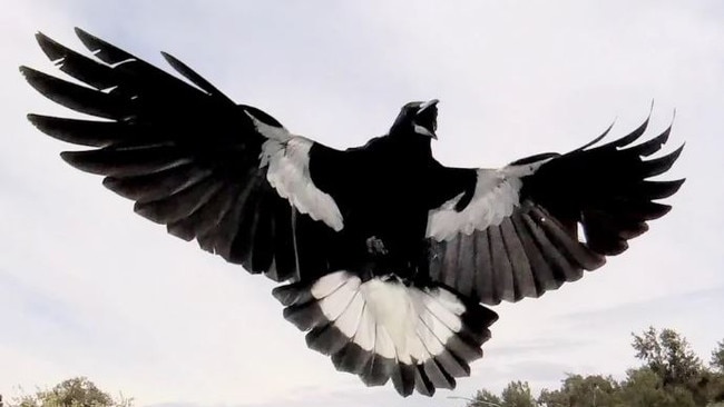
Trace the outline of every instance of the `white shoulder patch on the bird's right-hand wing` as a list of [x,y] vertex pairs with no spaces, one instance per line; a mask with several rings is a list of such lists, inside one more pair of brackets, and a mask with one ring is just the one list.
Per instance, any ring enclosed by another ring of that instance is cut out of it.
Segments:
[[438,241],[450,240],[458,234],[470,235],[500,225],[520,205],[518,192],[520,178],[538,170],[548,160],[501,169],[478,169],[478,181],[470,204],[462,210],[454,209],[462,193],[444,202],[428,215],[427,237]]

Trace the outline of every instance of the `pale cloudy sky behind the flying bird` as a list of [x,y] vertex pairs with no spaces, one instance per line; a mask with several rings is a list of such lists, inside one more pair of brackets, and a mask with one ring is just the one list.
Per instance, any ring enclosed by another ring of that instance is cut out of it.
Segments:
[[401,105],[439,98],[436,156],[496,167],[576,148],[616,119],[676,120],[674,210],[603,269],[502,305],[469,379],[411,406],[512,379],[620,375],[632,331],[724,338],[724,8],[721,1],[13,1],[0,16],[0,393],[85,375],[137,405],[400,405],[307,350],[271,281],[166,236],[58,159],[29,111],[65,113],[21,63],[55,72],[33,33],[72,28],[165,67],[168,51],[235,100],[334,147],[383,133]]

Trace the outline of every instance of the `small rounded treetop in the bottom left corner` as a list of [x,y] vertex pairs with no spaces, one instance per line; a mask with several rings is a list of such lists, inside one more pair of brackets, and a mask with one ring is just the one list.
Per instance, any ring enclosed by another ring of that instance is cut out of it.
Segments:
[[75,377],[50,390],[21,396],[9,407],[130,407],[133,399],[114,399],[85,377]]

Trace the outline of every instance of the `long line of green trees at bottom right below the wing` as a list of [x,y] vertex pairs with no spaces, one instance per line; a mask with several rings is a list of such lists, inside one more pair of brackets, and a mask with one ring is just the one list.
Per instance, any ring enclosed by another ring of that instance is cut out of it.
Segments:
[[642,365],[622,380],[604,375],[568,375],[557,389],[537,396],[527,381],[500,394],[480,389],[468,407],[724,407],[724,340],[705,364],[673,329],[633,335]]

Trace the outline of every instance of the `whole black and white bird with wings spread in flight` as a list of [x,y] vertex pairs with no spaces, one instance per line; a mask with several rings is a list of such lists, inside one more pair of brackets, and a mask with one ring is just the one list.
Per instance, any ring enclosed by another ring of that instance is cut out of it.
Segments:
[[169,234],[283,282],[273,295],[310,348],[403,396],[453,388],[498,318],[483,305],[539,297],[603,266],[668,212],[655,200],[683,183],[648,180],[682,148],[645,159],[671,129],[637,142],[647,122],[499,169],[442,166],[431,152],[434,99],[404,105],[387,135],[336,150],[235,103],[169,54],[186,80],[76,32],[95,58],[37,39],[86,86],[20,68],[46,97],[100,119],[28,116],[90,148],[62,159],[104,176]]

